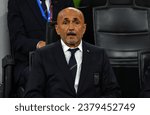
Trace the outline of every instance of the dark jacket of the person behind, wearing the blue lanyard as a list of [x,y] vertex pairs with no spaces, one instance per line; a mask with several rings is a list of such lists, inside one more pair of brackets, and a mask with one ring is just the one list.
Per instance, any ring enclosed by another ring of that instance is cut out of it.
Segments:
[[[73,6],[72,0],[53,0],[53,19],[68,6]],[[8,1],[8,29],[16,60],[15,82],[18,82],[20,73],[28,66],[29,52],[36,49],[40,40],[45,41],[46,20],[36,0]]]

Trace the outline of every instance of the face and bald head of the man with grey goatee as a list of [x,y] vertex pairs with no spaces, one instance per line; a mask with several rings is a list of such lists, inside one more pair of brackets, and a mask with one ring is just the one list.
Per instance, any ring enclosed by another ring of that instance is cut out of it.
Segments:
[[57,18],[56,31],[69,47],[77,47],[86,30],[83,14],[75,9],[63,10]]

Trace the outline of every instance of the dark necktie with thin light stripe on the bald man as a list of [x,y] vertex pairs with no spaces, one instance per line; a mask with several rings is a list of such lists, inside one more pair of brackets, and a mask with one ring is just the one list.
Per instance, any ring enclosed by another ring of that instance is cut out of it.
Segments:
[[68,65],[69,65],[69,69],[73,77],[73,81],[75,80],[75,76],[77,72],[77,62],[76,62],[75,55],[74,55],[77,50],[79,50],[79,48],[68,50],[71,52],[71,57],[70,57]]

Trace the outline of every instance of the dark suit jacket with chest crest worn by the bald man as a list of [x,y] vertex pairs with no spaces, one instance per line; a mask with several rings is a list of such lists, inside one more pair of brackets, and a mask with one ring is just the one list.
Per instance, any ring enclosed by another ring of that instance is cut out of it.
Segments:
[[119,87],[104,50],[83,42],[77,94],[60,41],[35,52],[25,97],[119,96]]

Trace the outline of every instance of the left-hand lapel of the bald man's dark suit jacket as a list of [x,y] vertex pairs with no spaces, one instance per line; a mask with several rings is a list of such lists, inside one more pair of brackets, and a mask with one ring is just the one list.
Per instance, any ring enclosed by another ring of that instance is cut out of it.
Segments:
[[71,73],[69,71],[67,61],[60,43],[60,40],[57,42],[58,47],[55,49],[55,59],[56,63],[61,70],[62,77],[64,77],[66,83],[68,84],[68,87],[70,88],[73,95],[75,95],[75,89],[74,89],[74,82],[71,77]]

